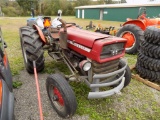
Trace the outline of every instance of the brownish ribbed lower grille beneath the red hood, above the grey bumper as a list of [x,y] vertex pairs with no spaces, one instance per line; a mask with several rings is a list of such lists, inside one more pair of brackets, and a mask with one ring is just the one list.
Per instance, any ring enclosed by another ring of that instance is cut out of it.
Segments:
[[97,63],[96,61],[92,62],[93,65],[93,73],[95,74],[107,74],[118,70],[119,68],[119,59],[112,60],[106,63]]

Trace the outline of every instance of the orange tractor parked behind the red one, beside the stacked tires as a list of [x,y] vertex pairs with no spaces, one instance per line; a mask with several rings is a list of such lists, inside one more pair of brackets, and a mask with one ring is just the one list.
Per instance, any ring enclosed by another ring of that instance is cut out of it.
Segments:
[[140,42],[144,40],[143,31],[152,25],[160,25],[160,18],[147,18],[145,7],[139,9],[137,19],[127,19],[117,32],[118,37],[127,39],[126,53],[135,54],[138,51]]

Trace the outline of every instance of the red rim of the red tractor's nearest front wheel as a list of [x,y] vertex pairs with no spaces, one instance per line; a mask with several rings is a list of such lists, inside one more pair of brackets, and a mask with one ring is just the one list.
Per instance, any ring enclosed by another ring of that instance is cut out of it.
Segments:
[[64,111],[65,110],[64,99],[62,97],[62,94],[58,90],[58,88],[53,85],[50,85],[49,95],[50,95],[51,102],[54,104],[54,106],[59,111]]

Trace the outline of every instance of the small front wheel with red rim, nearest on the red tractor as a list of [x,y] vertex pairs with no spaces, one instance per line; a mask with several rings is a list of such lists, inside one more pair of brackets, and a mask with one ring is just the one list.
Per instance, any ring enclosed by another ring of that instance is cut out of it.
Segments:
[[74,115],[77,102],[73,90],[60,74],[50,75],[46,80],[46,89],[52,107],[62,118]]

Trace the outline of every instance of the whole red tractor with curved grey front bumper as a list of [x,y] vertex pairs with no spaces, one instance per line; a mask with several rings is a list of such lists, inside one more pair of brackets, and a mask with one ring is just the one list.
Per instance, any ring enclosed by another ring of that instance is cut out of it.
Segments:
[[[26,70],[33,73],[32,62],[36,61],[37,71],[42,71],[47,50],[55,61],[63,61],[71,71],[71,75],[56,73],[46,80],[51,104],[61,117],[71,117],[77,107],[68,81],[85,81],[91,88],[89,99],[119,93],[130,83],[131,72],[122,59],[126,39],[80,29],[60,16],[53,21],[50,17],[32,18],[27,25],[20,28]],[[110,90],[101,89],[109,86]]]

